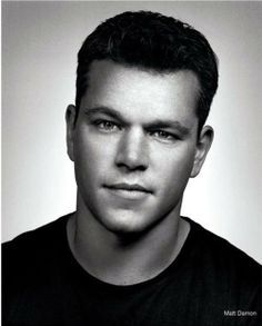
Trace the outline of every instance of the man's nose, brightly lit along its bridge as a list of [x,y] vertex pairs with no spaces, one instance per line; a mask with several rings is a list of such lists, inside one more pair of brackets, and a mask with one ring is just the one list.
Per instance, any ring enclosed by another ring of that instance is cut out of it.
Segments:
[[135,127],[127,130],[119,141],[115,165],[125,171],[144,171],[148,164],[148,146],[143,130]]

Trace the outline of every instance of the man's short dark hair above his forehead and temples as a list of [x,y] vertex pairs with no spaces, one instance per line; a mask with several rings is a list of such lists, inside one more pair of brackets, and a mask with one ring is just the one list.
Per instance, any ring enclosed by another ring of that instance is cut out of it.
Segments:
[[157,72],[190,70],[200,82],[196,107],[202,129],[218,88],[218,60],[205,37],[188,23],[151,11],[127,11],[99,24],[87,37],[77,69],[77,112],[94,60],[112,60]]

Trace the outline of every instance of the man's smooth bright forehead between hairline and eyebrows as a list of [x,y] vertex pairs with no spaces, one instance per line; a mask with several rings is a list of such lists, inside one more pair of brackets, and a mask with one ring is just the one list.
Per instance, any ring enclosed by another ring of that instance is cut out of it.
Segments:
[[93,61],[81,107],[105,106],[127,118],[195,118],[196,76],[189,70],[159,73],[109,60]]

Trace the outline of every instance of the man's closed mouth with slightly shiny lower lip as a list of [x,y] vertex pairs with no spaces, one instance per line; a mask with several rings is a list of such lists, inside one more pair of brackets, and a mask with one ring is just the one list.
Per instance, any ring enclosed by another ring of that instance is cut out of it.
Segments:
[[111,194],[122,197],[124,199],[143,199],[148,197],[148,195],[152,195],[152,190],[138,185],[138,184],[112,184],[104,185],[105,189],[108,189]]

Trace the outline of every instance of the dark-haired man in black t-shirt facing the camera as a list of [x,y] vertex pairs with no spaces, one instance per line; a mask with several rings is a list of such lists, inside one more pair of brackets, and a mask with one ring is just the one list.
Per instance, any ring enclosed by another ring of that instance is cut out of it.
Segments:
[[152,12],[101,23],[67,110],[77,211],[3,247],[3,325],[259,325],[261,268],[180,216],[204,162],[215,55]]

